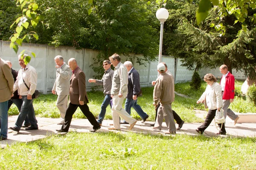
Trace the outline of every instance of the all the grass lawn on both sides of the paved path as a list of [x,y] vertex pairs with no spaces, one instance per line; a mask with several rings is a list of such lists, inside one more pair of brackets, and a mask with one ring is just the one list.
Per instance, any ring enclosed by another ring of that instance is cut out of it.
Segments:
[[[175,85],[175,91],[191,97],[186,99],[176,95],[172,104],[173,110],[185,122],[203,122],[194,111],[204,110],[204,105],[196,104],[206,83],[202,85],[199,91],[191,90],[188,83]],[[154,121],[152,92],[153,88],[143,88],[138,104],[148,113],[149,120]],[[98,116],[104,99],[102,92],[88,92],[88,97],[90,111]],[[52,94],[35,99],[37,116],[59,118],[55,101],[56,96]],[[254,105],[240,97],[235,101],[241,101],[244,111],[256,110]],[[231,107],[237,111],[234,104]],[[17,114],[17,108],[12,106],[9,114]],[[133,109],[132,116],[140,119]],[[84,118],[80,110],[74,117]],[[112,119],[110,107],[105,118]],[[256,138],[70,132],[34,142],[7,145],[1,150],[0,158],[0,169],[6,170],[255,170]]]

